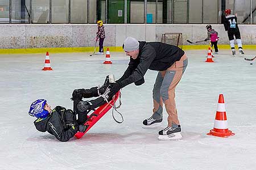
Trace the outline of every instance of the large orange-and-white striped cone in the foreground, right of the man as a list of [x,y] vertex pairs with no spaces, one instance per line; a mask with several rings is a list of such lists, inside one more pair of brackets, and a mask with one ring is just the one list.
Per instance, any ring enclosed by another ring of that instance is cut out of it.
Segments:
[[213,135],[216,137],[222,137],[227,138],[234,133],[228,129],[228,121],[226,119],[226,108],[224,103],[224,97],[222,94],[218,97],[218,107],[216,111],[215,121],[214,121],[214,127],[208,135]]

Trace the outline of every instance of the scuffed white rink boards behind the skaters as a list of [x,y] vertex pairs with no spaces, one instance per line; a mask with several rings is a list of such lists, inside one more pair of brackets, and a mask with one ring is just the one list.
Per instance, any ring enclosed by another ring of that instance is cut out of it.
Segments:
[[[138,40],[161,41],[162,33],[183,33],[186,40],[207,37],[207,24],[105,24],[105,46],[122,46],[127,36]],[[219,44],[229,44],[223,24],[212,24],[219,33]],[[256,25],[239,25],[242,43],[256,44]],[[51,48],[94,46],[96,24],[0,24],[0,48]],[[203,42],[207,44],[208,42]]]

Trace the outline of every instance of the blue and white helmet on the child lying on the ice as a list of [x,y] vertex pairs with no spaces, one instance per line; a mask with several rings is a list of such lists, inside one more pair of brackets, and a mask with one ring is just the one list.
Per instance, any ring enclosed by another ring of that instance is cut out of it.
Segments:
[[30,111],[28,111],[28,114],[30,114],[30,116],[34,116],[37,118],[47,117],[49,112],[44,110],[46,102],[47,101],[45,99],[38,99],[34,101],[30,106]]

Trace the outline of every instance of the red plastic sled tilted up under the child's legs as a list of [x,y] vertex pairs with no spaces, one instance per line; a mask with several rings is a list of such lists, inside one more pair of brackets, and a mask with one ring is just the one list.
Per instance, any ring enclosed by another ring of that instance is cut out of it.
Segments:
[[92,114],[87,116],[88,120],[85,122],[84,125],[88,126],[88,128],[85,130],[85,132],[80,132],[80,131],[77,132],[75,134],[77,139],[80,139],[88,130],[90,130],[90,128],[92,128],[94,124],[97,123],[98,120],[100,120],[102,116],[104,116],[104,114],[106,114],[106,112],[108,112],[112,108],[111,105],[114,105],[114,101],[117,101],[119,95],[120,95],[120,91],[118,91],[117,94],[114,95],[113,100],[111,100],[109,103],[105,103],[104,105],[101,105],[96,109],[96,111],[94,111]]

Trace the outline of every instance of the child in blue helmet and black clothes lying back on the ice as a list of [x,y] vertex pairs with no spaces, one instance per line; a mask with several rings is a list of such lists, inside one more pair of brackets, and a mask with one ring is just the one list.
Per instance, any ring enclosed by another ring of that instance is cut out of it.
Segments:
[[[84,132],[87,126],[84,123],[87,120],[87,114],[102,104],[106,100],[110,100],[113,96],[108,96],[110,90],[109,75],[106,77],[104,84],[101,87],[92,87],[90,89],[76,89],[73,91],[73,111],[61,106],[51,110],[47,100],[39,99],[34,101],[30,106],[28,114],[37,119],[34,125],[37,130],[55,135],[56,139],[61,142],[68,141],[77,131]],[[83,101],[82,98],[98,97],[94,100]]]

